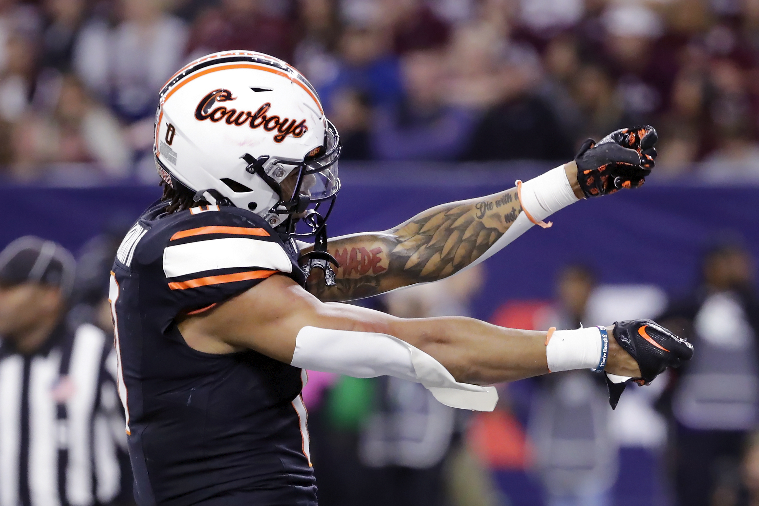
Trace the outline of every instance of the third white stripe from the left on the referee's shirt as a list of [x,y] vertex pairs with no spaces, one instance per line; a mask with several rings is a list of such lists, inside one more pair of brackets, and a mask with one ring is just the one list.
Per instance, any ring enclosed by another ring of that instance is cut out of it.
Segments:
[[77,328],[71,349],[71,378],[77,394],[68,401],[68,489],[72,506],[93,502],[93,472],[90,455],[90,423],[92,422],[100,357],[105,337],[102,331],[85,324]]

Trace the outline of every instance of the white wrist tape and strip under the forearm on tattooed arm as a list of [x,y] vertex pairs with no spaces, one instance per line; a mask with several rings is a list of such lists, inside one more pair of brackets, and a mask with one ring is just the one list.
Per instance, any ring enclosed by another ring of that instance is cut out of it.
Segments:
[[[572,185],[569,184],[563,165],[556,167],[556,169],[551,169],[545,174],[530,179],[521,185],[522,208],[528,210],[537,221],[542,221],[550,214],[556,213],[557,210],[563,209],[578,200],[580,199],[572,191]],[[512,226],[509,226],[509,229],[468,267],[477,265],[492,257],[524,232],[531,229],[532,226],[534,226],[534,223],[530,221],[526,214],[519,213]]]

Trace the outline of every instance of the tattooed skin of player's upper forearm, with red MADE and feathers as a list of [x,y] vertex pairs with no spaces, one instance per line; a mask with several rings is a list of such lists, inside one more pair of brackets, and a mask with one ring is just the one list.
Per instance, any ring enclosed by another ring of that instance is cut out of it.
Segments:
[[326,286],[322,271],[314,270],[308,289],[325,301],[361,299],[448,277],[479,258],[520,212],[512,188],[433,207],[386,232],[332,239],[337,285]]

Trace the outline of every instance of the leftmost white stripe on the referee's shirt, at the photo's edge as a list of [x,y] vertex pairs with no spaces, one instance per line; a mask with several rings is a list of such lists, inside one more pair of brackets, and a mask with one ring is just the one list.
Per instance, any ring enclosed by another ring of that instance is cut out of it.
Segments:
[[18,457],[21,425],[21,381],[24,359],[0,362],[0,506],[18,504]]

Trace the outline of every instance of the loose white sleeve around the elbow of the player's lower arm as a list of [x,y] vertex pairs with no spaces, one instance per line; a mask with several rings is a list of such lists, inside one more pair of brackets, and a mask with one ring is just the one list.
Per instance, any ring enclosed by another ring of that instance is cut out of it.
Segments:
[[462,410],[493,411],[498,402],[495,387],[459,383],[436,359],[387,334],[303,327],[290,365],[354,378],[395,376],[423,384],[441,403]]

